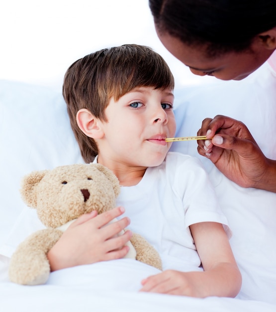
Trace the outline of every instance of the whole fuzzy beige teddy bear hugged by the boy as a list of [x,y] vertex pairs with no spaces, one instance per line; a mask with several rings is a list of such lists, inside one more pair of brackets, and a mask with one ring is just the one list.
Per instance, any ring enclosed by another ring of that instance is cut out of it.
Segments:
[[[82,214],[92,210],[99,214],[115,207],[120,185],[113,172],[101,164],[70,164],[31,172],[22,179],[20,192],[46,228],[18,245],[10,259],[9,279],[21,285],[39,285],[49,278],[47,253],[63,231]],[[133,233],[128,243],[126,257],[162,270],[158,252],[141,235]]]

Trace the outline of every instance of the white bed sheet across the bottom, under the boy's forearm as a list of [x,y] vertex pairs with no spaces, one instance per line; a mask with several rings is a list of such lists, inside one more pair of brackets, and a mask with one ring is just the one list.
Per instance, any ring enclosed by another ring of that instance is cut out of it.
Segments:
[[61,270],[43,286],[2,283],[0,307],[5,312],[275,312],[275,305],[260,301],[137,292],[140,279],[156,271],[133,260],[118,260],[112,266],[99,263]]

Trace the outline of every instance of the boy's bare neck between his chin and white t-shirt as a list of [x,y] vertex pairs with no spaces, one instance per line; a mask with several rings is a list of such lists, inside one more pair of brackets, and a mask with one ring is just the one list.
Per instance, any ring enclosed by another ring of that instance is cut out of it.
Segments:
[[147,169],[147,167],[129,166],[111,159],[103,159],[100,155],[98,155],[97,162],[110,169],[118,178],[121,186],[137,185]]

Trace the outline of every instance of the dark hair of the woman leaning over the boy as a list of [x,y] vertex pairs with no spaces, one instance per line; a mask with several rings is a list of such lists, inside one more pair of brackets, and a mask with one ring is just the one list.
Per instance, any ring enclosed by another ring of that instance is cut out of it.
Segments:
[[207,55],[250,48],[253,38],[276,26],[276,0],[149,0],[157,30]]

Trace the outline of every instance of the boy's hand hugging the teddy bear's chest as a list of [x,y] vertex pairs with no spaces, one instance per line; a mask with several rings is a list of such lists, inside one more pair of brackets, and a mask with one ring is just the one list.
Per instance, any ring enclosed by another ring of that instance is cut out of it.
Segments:
[[124,217],[108,224],[123,212],[123,207],[116,207],[99,215],[92,211],[79,217],[48,252],[51,270],[124,257],[129,250],[125,244],[132,234],[130,231],[121,236],[116,234],[127,227],[130,220]]

